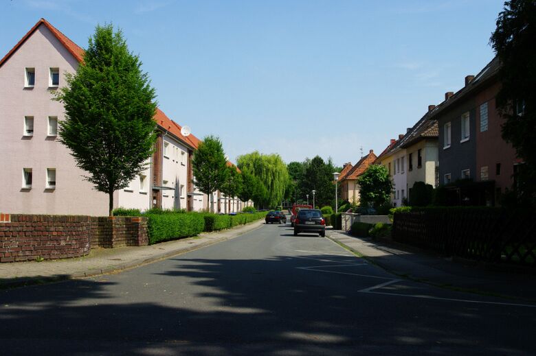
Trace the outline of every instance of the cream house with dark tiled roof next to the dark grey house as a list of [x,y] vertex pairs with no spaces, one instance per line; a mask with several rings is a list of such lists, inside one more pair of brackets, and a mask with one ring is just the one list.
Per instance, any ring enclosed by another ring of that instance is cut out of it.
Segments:
[[402,206],[409,200],[415,182],[425,182],[436,187],[438,167],[438,126],[436,121],[429,120],[435,106],[428,107],[428,112],[417,121],[399,139],[391,139],[388,147],[375,161],[383,165],[389,172],[393,182],[391,203]]

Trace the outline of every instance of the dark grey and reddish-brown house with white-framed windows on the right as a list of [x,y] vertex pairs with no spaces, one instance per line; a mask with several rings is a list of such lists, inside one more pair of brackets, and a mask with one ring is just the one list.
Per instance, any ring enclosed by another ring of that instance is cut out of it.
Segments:
[[450,185],[451,204],[496,205],[513,185],[520,160],[501,137],[504,119],[495,108],[499,69],[494,58],[478,75],[467,75],[465,86],[445,93],[445,101],[429,116],[438,122],[440,183],[474,183],[465,188]]

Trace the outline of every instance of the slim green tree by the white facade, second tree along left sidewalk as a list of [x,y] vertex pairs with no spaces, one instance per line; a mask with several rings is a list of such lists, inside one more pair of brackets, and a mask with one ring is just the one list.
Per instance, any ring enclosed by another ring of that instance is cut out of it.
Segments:
[[229,170],[223,145],[218,137],[208,136],[199,143],[192,158],[194,185],[210,196],[210,211],[214,213],[214,191],[221,189]]

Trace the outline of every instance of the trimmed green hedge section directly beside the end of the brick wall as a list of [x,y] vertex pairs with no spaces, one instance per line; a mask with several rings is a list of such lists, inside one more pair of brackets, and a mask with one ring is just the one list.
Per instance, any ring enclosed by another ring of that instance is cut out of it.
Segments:
[[146,213],[149,244],[181,237],[194,236],[203,231],[205,222],[200,213]]

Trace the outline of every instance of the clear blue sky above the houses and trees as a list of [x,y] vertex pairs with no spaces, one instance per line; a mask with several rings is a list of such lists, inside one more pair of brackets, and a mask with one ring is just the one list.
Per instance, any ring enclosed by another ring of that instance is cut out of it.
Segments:
[[120,27],[159,106],[232,161],[258,150],[336,165],[373,149],[491,58],[501,0],[0,0],[0,56],[44,17],[81,47]]

